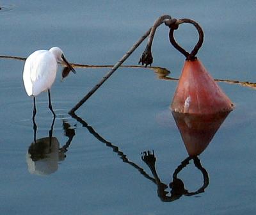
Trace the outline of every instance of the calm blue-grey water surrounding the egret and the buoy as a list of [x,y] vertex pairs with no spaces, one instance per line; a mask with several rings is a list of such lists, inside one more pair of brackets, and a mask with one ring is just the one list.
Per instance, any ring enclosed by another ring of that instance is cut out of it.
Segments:
[[[159,15],[167,13],[194,19],[204,28],[198,58],[213,77],[256,82],[255,1],[28,0],[1,1],[0,6],[0,55],[26,57],[36,49],[59,46],[72,63],[113,65]],[[197,39],[196,31],[186,25],[175,36],[188,49]],[[144,47],[145,43],[125,64],[136,65]],[[184,56],[168,42],[165,26],[156,33],[153,55],[154,66],[179,77]],[[32,100],[23,88],[23,65],[24,61],[0,58],[1,214],[256,211],[255,89],[220,83],[236,109],[199,156],[209,184],[204,193],[163,202],[141,152],[154,150],[159,180],[167,186],[188,157],[169,110],[177,82],[159,79],[150,69],[120,68],[72,118],[67,112],[109,68],[76,68],[77,74],[63,82],[59,72],[52,86],[57,118],[51,150],[47,148],[52,125],[47,93],[37,99],[36,139],[45,141],[43,150],[51,155],[35,153],[32,161],[28,153],[39,149],[31,145]],[[204,184],[192,161],[180,171],[179,179],[189,192]]]

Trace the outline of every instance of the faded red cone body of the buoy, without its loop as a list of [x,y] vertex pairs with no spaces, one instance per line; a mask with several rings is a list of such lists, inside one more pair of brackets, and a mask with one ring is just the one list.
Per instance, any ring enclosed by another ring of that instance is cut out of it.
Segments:
[[179,113],[214,114],[232,111],[234,105],[200,60],[186,60],[171,109]]

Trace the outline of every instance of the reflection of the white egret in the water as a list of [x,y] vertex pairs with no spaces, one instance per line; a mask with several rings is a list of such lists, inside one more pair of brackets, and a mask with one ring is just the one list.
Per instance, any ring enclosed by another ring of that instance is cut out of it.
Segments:
[[49,136],[36,139],[36,123],[33,120],[34,141],[28,148],[26,161],[28,163],[28,171],[35,175],[50,175],[58,170],[58,162],[63,161],[66,157],[67,148],[76,132],[70,127],[67,120],[63,120],[64,135],[68,137],[68,141],[60,147],[60,143],[56,137],[52,136],[55,118],[52,121]]

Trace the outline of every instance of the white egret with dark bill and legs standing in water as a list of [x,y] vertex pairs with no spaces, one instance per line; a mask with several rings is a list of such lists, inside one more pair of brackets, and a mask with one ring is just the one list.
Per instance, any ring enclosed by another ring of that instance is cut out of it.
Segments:
[[67,65],[69,70],[76,73],[74,68],[65,59],[63,51],[58,47],[52,47],[49,51],[35,51],[25,61],[23,82],[29,97],[33,97],[34,100],[33,119],[36,115],[35,97],[45,91],[48,91],[49,109],[51,109],[55,117],[55,113],[52,110],[50,88],[56,79],[58,63]]

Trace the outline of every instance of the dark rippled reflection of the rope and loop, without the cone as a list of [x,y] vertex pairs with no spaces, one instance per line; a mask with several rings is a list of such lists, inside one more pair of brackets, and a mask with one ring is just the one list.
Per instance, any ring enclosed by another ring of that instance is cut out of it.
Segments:
[[[113,152],[115,152],[115,154],[117,154],[122,159],[122,161],[124,163],[130,164],[132,167],[136,168],[136,170],[138,170],[141,173],[141,175],[143,175],[146,179],[154,182],[154,184],[157,185],[157,195],[163,202],[173,202],[174,200],[179,199],[182,195],[193,196],[193,195],[198,195],[199,193],[204,193],[205,188],[209,185],[208,173],[200,164],[200,159],[195,155],[189,156],[188,158],[184,159],[184,161],[182,161],[181,164],[174,171],[172,182],[170,182],[170,188],[171,188],[170,194],[171,195],[168,196],[167,195],[168,192],[165,191],[165,189],[168,188],[168,186],[166,184],[163,184],[163,182],[161,182],[161,179],[159,179],[159,176],[157,175],[156,157],[154,155],[154,151],[153,151],[153,154],[151,154],[150,151],[141,153],[142,154],[141,159],[147,164],[148,168],[150,168],[150,171],[152,172],[153,177],[151,177],[138,164],[136,164],[132,161],[129,161],[129,158],[127,157],[126,154],[124,154],[124,152],[122,152],[116,145],[113,145],[113,143],[107,141],[102,136],[100,136],[100,134],[98,132],[96,132],[92,126],[90,126],[90,125],[88,125],[88,123],[86,123],[86,121],[84,121],[82,118],[80,118],[76,114],[73,114],[72,117],[75,118],[77,120],[77,122],[81,123],[83,125],[83,127],[88,129],[88,131],[95,138],[99,139],[100,142],[104,143],[104,145],[106,145],[107,147],[112,148]],[[177,178],[178,173],[189,164],[190,160],[194,161],[196,168],[198,168],[198,170],[200,170],[202,172],[202,175],[204,177],[203,186],[200,187],[195,192],[189,192],[188,190],[186,190],[184,188],[184,184],[183,184],[182,180]]]

